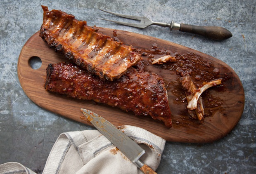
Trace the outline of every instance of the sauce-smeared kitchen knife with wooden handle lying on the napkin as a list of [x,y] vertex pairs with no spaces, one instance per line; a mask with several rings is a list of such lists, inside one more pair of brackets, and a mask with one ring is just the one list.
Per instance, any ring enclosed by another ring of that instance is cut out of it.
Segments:
[[114,146],[116,146],[116,148],[140,168],[142,172],[145,174],[156,174],[153,169],[140,160],[140,157],[145,153],[145,150],[137,145],[137,143],[96,113],[82,108],[81,112],[92,125],[94,125],[109,141],[111,141],[111,143],[114,144]]

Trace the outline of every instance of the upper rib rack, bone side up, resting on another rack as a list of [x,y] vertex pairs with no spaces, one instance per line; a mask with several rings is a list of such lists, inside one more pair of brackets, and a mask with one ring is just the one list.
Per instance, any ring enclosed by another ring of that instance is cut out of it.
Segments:
[[101,79],[120,78],[142,58],[131,46],[103,35],[97,29],[60,10],[43,8],[40,37],[73,63]]

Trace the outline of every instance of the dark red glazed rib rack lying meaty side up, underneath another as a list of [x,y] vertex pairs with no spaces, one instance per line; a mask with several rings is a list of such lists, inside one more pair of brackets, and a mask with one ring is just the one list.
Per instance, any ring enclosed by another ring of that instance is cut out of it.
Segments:
[[171,111],[164,80],[139,62],[121,78],[108,81],[72,63],[49,64],[45,89],[66,96],[116,106],[135,115],[150,115],[171,127]]

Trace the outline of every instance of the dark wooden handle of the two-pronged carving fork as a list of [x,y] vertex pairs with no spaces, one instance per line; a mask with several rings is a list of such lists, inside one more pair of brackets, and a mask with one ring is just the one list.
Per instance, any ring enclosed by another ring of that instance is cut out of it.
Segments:
[[232,37],[230,31],[218,26],[193,26],[180,24],[179,31],[203,35],[214,40],[224,40]]

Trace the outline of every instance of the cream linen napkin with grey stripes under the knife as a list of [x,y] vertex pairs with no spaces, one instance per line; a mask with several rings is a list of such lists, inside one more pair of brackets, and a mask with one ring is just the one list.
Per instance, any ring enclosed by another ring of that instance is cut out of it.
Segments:
[[[165,140],[135,126],[119,129],[141,146],[146,153],[140,158],[156,170]],[[35,174],[17,162],[0,165],[0,174]],[[142,174],[119,149],[98,130],[66,132],[59,135],[47,158],[43,174]]]

